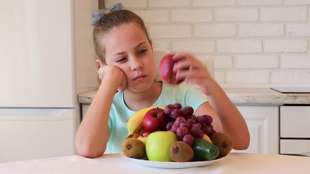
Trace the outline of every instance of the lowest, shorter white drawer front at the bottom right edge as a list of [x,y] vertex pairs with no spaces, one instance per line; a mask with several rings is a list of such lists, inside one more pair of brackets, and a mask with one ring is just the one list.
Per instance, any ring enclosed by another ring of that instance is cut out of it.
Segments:
[[281,154],[310,154],[310,140],[280,140]]

